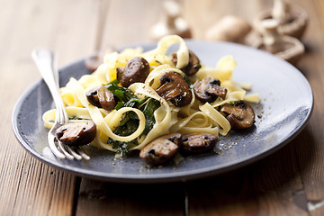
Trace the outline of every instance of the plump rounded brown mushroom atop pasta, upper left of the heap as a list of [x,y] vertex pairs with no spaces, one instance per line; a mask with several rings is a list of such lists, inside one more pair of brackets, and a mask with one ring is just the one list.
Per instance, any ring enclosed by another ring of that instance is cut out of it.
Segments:
[[133,83],[143,83],[148,76],[149,65],[145,58],[131,58],[125,68],[117,68],[117,79],[121,85],[128,87]]

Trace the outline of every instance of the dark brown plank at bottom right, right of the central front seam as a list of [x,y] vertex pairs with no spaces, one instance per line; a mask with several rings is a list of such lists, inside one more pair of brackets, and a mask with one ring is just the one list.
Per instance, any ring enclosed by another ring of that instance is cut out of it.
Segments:
[[190,215],[307,215],[293,155],[291,143],[251,166],[189,183]]

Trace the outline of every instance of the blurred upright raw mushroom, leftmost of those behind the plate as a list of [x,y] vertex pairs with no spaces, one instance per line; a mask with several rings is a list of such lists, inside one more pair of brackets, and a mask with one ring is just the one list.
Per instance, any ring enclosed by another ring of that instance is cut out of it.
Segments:
[[182,38],[192,37],[188,23],[181,16],[181,5],[175,0],[164,1],[160,20],[149,31],[152,40],[159,40],[169,34],[176,34]]

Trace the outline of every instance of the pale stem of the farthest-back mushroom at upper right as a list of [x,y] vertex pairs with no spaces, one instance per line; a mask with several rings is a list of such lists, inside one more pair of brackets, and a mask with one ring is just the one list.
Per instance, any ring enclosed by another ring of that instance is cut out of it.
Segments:
[[288,23],[291,19],[290,6],[289,0],[275,0],[272,16],[279,24]]

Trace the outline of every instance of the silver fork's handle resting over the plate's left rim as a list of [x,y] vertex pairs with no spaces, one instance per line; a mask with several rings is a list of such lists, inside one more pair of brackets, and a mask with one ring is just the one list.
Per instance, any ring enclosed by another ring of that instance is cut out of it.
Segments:
[[33,49],[31,57],[39,68],[40,75],[49,86],[49,92],[53,97],[57,111],[64,110],[65,112],[64,104],[58,90],[57,56],[49,49]]

